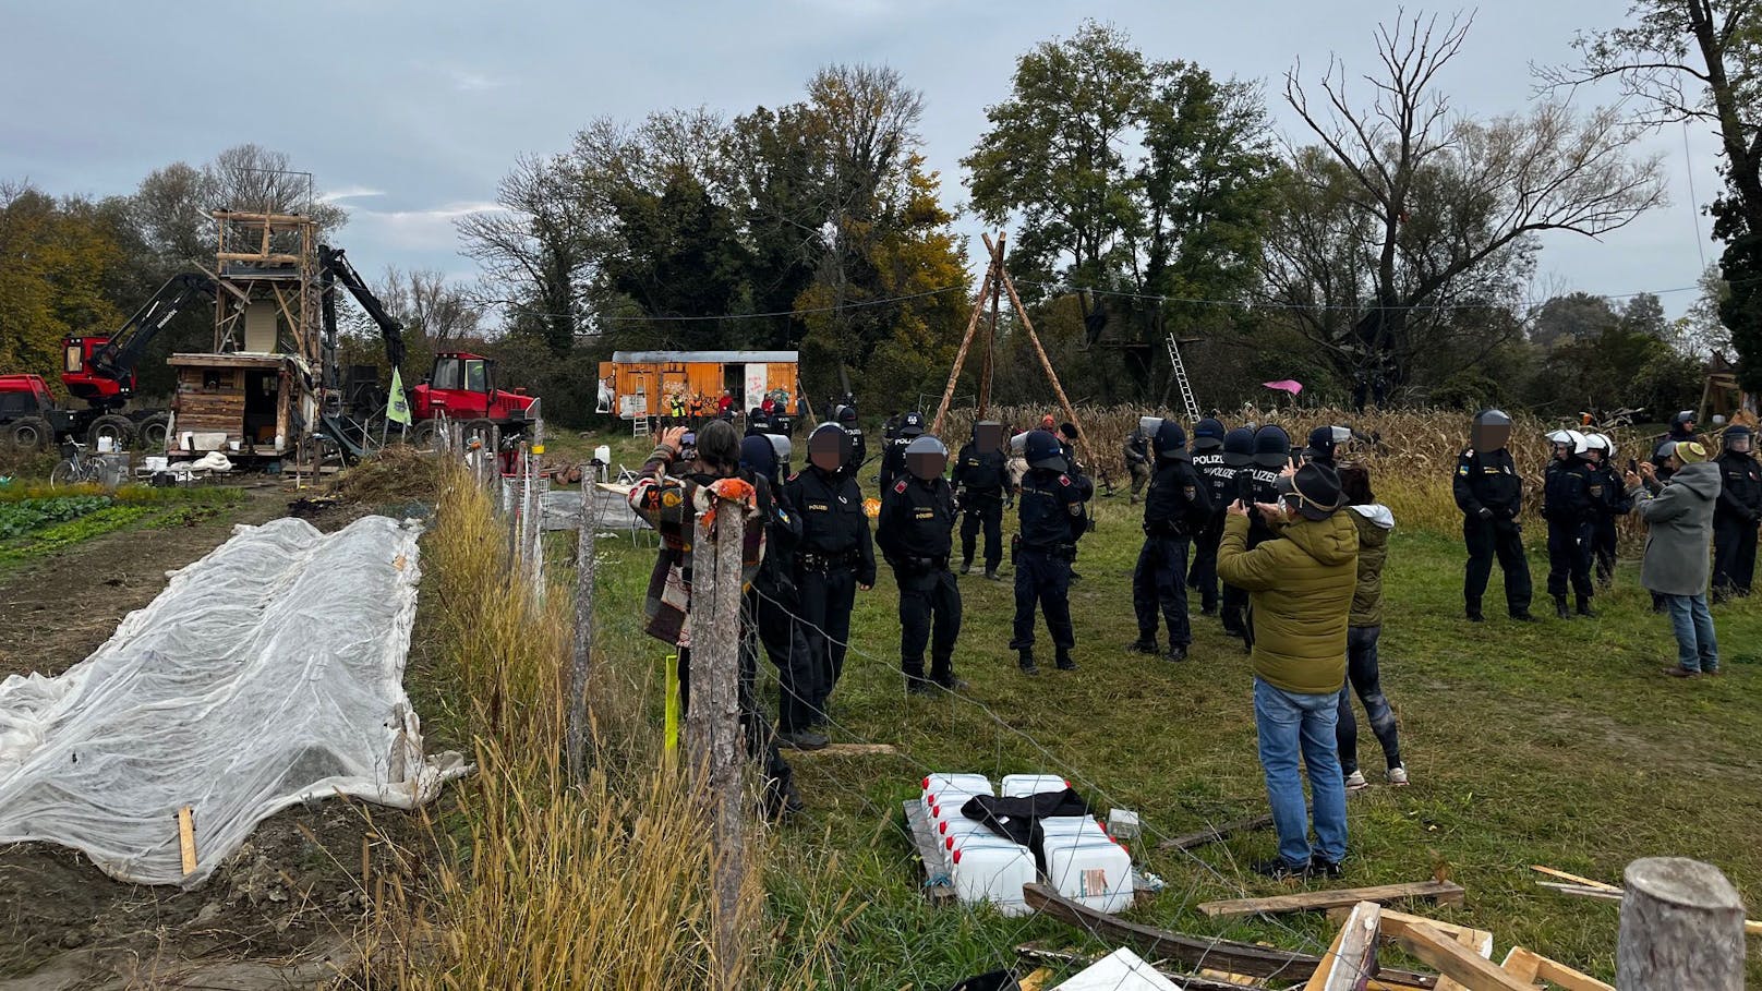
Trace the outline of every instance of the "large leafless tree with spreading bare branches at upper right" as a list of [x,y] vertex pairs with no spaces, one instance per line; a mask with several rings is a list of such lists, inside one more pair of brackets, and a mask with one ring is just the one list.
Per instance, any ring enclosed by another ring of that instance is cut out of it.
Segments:
[[1477,272],[1510,263],[1536,233],[1607,235],[1663,199],[1658,160],[1630,157],[1637,134],[1612,109],[1579,116],[1540,104],[1487,122],[1452,115],[1438,76],[1470,26],[1406,12],[1378,25],[1380,72],[1364,76],[1369,104],[1348,93],[1337,58],[1316,101],[1300,63],[1284,76],[1284,99],[1344,169],[1339,196],[1362,213],[1355,236],[1367,238],[1371,265],[1350,328],[1307,321],[1327,324],[1314,337],[1336,360],[1350,358],[1360,379],[1381,374],[1399,386],[1424,330],[1415,314],[1478,296]]

